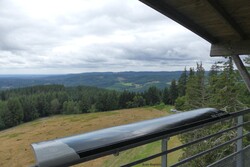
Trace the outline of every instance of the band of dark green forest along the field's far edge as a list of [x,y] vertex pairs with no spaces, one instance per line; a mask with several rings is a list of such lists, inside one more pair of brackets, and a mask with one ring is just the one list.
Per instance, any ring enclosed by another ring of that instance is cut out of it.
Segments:
[[0,103],[0,129],[56,114],[142,107],[160,104],[163,100],[166,104],[170,103],[168,88],[162,91],[155,86],[143,93],[62,85],[34,86],[0,93],[4,99]]

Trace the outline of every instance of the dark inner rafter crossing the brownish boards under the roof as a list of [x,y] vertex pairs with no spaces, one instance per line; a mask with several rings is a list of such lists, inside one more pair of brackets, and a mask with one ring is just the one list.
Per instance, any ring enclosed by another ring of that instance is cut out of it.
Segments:
[[207,0],[208,3],[215,9],[215,12],[221,16],[227,25],[229,25],[232,30],[234,30],[241,39],[247,39],[246,33],[242,30],[242,28],[237,24],[235,19],[230,16],[230,14],[226,11],[226,9],[220,4],[218,0]]

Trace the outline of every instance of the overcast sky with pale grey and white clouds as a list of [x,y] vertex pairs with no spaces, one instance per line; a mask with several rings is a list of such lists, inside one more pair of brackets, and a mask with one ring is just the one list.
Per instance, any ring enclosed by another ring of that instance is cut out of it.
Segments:
[[209,70],[209,49],[137,0],[0,0],[0,74]]

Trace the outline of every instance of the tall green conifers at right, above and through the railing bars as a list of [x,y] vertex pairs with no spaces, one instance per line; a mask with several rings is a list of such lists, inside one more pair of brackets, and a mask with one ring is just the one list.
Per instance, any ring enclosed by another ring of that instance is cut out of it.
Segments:
[[[218,62],[214,64],[209,72],[208,78],[205,76],[202,64],[197,64],[197,69],[190,70],[187,90],[185,97],[176,100],[176,108],[182,110],[190,110],[202,107],[214,107],[225,110],[227,112],[235,112],[249,106],[249,93],[237,72],[233,69],[232,60],[229,58],[226,62]],[[245,91],[244,94],[243,90]],[[222,127],[228,128],[235,124],[234,121],[223,122],[210,127],[202,128],[187,134],[181,135],[183,143],[196,140],[209,134],[219,131]],[[182,159],[195,155],[201,151],[212,148],[229,139],[235,137],[235,133],[228,132],[220,137],[212,138],[196,145],[189,146],[184,149]],[[234,150],[234,145],[228,145],[216,150],[216,153],[209,153],[193,161],[186,166],[207,166],[208,164],[229,155]],[[215,156],[216,155],[216,156]]]

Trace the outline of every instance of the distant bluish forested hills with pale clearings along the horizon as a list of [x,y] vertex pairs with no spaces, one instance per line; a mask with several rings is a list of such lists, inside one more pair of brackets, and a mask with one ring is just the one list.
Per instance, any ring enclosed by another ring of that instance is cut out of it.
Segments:
[[114,90],[144,91],[150,86],[165,88],[181,71],[172,72],[95,72],[67,75],[0,75],[0,90],[35,85],[95,86]]

